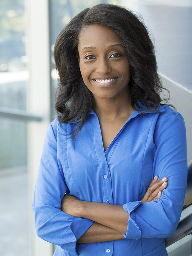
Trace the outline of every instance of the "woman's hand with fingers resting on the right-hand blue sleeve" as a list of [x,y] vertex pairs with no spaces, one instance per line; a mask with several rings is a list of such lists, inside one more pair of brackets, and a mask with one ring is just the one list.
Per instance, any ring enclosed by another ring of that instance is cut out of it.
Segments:
[[156,175],[154,179],[151,181],[149,187],[147,188],[147,192],[145,193],[142,203],[151,202],[161,197],[162,191],[167,187],[167,177],[158,180],[158,176]]

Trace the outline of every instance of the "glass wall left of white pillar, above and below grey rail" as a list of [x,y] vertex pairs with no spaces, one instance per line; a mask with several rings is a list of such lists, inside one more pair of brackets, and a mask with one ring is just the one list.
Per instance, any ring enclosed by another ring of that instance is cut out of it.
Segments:
[[[25,0],[0,1],[0,111],[26,109]],[[0,116],[0,255],[29,256],[26,122]]]

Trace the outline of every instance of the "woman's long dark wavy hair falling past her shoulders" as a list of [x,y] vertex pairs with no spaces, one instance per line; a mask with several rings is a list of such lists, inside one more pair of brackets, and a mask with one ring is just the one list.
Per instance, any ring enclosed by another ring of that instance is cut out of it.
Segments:
[[112,28],[124,46],[130,66],[132,108],[138,109],[139,100],[145,109],[158,112],[165,100],[160,97],[164,88],[157,72],[154,46],[142,21],[131,11],[117,5],[99,4],[86,8],[61,31],[54,48],[59,74],[55,108],[60,124],[79,121],[75,137],[94,103],[91,91],[83,82],[78,63],[79,35],[83,28],[93,24]]

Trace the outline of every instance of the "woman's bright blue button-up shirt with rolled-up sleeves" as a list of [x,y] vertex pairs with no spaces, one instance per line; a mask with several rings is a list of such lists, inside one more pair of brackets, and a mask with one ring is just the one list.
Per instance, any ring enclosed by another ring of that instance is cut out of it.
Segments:
[[[33,211],[38,236],[59,245],[61,255],[167,255],[164,238],[179,222],[187,183],[186,134],[182,116],[134,110],[104,151],[92,109],[75,142],[77,123],[54,120],[46,133]],[[68,135],[67,135],[68,134]],[[168,178],[159,200],[141,203],[155,175]],[[80,200],[123,205],[130,217],[125,239],[90,244],[76,241],[93,224],[61,211],[65,193]]]

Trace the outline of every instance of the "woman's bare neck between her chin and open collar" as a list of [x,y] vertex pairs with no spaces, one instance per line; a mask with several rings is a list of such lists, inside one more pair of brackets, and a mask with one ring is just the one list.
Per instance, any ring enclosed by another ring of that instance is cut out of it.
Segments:
[[131,97],[128,92],[122,92],[112,99],[94,98],[93,109],[100,119],[116,120],[120,118],[129,118],[133,113],[131,106]]

